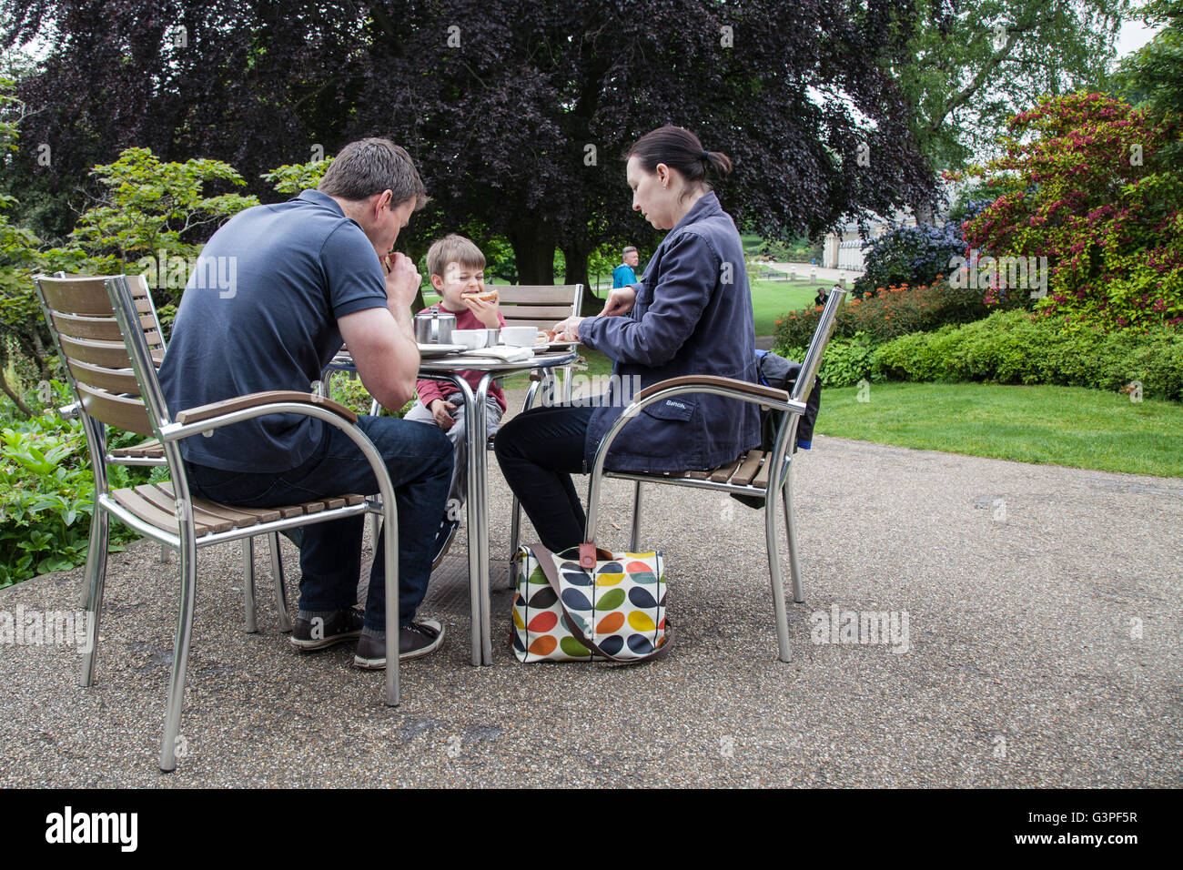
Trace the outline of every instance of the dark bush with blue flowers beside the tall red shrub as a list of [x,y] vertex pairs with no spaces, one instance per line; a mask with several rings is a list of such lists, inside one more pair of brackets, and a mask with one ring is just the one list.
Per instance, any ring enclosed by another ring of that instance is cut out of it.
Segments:
[[961,227],[901,226],[871,243],[864,256],[866,271],[854,282],[853,296],[875,296],[891,285],[931,284],[949,272],[949,260],[965,252]]

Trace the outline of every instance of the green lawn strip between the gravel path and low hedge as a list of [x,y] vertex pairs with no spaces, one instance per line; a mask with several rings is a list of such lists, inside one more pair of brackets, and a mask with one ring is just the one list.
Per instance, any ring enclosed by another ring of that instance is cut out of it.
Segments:
[[822,393],[817,432],[904,447],[1183,477],[1183,405],[1080,387],[872,384]]

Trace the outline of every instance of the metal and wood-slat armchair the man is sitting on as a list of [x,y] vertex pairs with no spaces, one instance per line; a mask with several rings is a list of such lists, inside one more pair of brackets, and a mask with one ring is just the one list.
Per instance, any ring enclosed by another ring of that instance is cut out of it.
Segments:
[[[82,685],[95,678],[103,587],[106,578],[108,528],[114,516],[129,528],[180,553],[176,637],[161,742],[160,768],[176,767],[176,735],[185,697],[185,676],[196,599],[198,549],[228,541],[328,522],[360,514],[381,514],[386,544],[386,618],[399,625],[397,520],[394,488],[374,444],[357,428],[349,408],[308,393],[271,391],[241,395],[183,411],[164,404],[156,367],[127,276],[52,278],[35,276],[37,292],[70,386],[95,469],[95,509],[86,555],[83,607],[88,637]],[[345,494],[282,508],[241,508],[189,491],[180,442],[222,426],[267,414],[303,414],[342,430],[367,458],[380,496]],[[111,490],[106,477],[105,426],[155,437],[164,451],[172,479]],[[386,703],[399,703],[397,631],[386,636]]]

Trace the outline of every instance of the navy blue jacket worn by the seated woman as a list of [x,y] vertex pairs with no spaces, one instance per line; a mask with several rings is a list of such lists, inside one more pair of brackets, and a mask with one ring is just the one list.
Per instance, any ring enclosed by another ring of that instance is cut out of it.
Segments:
[[[693,205],[633,286],[636,304],[627,316],[580,323],[580,340],[616,363],[606,400],[588,425],[588,470],[608,427],[651,384],[687,374],[758,382],[743,244],[718,196],[707,193]],[[632,389],[634,375],[639,386]],[[621,471],[710,469],[758,445],[757,406],[686,393],[629,420],[606,465]]]

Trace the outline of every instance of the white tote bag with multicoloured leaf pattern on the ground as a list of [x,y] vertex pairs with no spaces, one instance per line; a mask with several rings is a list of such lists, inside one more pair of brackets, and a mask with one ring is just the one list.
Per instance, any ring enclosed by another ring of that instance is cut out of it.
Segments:
[[513,655],[519,662],[644,662],[670,649],[660,553],[582,544],[515,555]]

